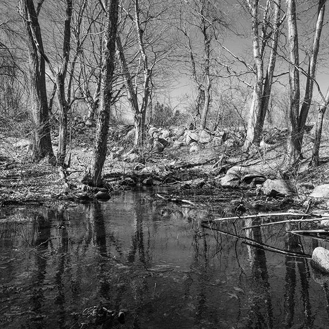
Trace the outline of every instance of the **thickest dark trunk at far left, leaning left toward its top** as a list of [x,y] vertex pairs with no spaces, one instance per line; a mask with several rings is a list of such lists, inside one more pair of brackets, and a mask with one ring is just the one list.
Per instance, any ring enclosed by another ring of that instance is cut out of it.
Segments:
[[19,10],[23,17],[29,47],[29,74],[34,137],[33,158],[40,160],[45,156],[53,157],[46,92],[45,60],[42,56],[43,43],[38,15],[35,12],[33,0],[19,0]]

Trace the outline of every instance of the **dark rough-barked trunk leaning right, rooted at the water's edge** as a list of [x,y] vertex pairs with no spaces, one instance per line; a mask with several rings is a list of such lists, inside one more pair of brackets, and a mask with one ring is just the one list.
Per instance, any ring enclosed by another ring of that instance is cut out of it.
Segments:
[[106,158],[108,122],[111,112],[112,79],[114,72],[115,44],[118,25],[119,0],[106,0],[105,33],[102,45],[102,80],[95,148],[88,173],[82,179],[89,185],[101,186],[101,174]]

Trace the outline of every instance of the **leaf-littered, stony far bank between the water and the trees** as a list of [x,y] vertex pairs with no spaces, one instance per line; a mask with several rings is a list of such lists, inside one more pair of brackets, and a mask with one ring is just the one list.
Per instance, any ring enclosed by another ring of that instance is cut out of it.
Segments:
[[[63,180],[58,167],[50,165],[48,159],[38,163],[30,161],[28,140],[2,134],[0,142],[0,207],[22,203],[43,204],[53,200],[87,202],[95,197],[95,191],[86,189],[80,182],[92,158],[92,143],[81,140],[72,143],[71,165],[66,170],[66,180]],[[109,143],[109,149],[118,149],[121,144],[118,141]],[[312,145],[312,142],[305,138],[305,154],[309,154]],[[165,186],[169,188],[172,196],[198,203],[211,203],[216,198],[240,203],[239,200],[248,197],[251,202],[259,196],[257,189],[225,190],[219,179],[227,169],[236,165],[257,170],[267,178],[282,178],[285,143],[278,141],[266,144],[249,154],[244,154],[241,149],[241,143],[216,147],[211,143],[200,144],[193,152],[190,152],[190,145],[178,148],[169,145],[161,153],[148,150],[140,162],[138,159],[113,159],[113,155],[108,152],[103,170],[104,186],[111,193],[140,186]],[[302,204],[310,188],[329,183],[329,158],[326,154],[329,154],[329,146],[321,149],[320,167],[307,170],[302,175],[291,176],[298,190],[292,200],[296,205]],[[220,159],[222,161],[218,161]],[[258,199],[261,200],[262,197],[259,196]]]

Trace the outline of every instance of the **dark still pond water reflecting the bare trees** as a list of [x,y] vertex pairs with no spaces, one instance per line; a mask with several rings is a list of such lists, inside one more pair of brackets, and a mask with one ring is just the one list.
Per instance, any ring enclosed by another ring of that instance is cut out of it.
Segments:
[[[1,213],[0,327],[329,327],[326,278],[315,278],[309,259],[232,236],[250,221],[216,227],[231,235],[200,226],[211,215],[147,191]],[[246,235],[290,252],[325,247],[285,230]],[[124,322],[98,321],[94,307],[123,310]]]

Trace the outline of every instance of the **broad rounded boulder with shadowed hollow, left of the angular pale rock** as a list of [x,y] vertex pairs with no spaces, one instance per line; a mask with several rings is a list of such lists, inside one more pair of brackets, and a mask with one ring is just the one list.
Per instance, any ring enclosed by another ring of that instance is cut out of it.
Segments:
[[[263,182],[266,180],[265,175],[259,171],[242,166],[234,166],[230,168],[226,175],[229,176],[228,178],[235,176],[236,180],[239,182],[239,185],[246,188],[263,184]],[[231,180],[232,179],[229,179],[229,181]]]

